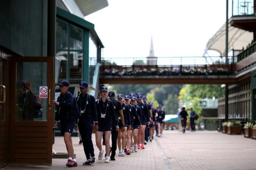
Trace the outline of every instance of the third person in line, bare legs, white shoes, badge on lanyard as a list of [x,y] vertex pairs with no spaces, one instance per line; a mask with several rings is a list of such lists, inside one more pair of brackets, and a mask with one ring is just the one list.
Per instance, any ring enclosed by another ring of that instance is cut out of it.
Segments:
[[114,112],[114,104],[111,100],[108,99],[108,88],[102,86],[100,88],[101,98],[96,101],[97,108],[97,117],[98,117],[98,131],[95,132],[96,136],[96,145],[100,150],[98,159],[102,160],[103,149],[101,145],[101,139],[103,133],[105,133],[105,146],[106,146],[106,159],[105,162],[109,163],[109,154],[110,154],[110,135],[113,126],[115,125],[116,131],[119,130],[118,123],[116,122],[116,115]]

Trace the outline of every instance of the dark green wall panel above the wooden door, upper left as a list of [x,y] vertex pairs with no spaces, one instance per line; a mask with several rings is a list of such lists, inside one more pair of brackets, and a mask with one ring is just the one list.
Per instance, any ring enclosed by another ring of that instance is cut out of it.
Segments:
[[46,56],[47,0],[0,3],[0,45],[22,56]]

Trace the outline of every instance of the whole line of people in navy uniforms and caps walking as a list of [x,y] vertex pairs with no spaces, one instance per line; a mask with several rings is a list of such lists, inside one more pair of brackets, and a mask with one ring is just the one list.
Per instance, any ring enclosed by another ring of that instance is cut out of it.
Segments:
[[[138,149],[145,149],[144,145],[154,139],[155,129],[157,136],[162,137],[165,112],[161,105],[155,109],[152,102],[147,103],[146,96],[141,92],[138,92],[137,96],[132,93],[127,96],[116,96],[115,92],[108,91],[106,86],[102,86],[100,98],[95,100],[94,96],[87,92],[87,82],[79,84],[81,93],[76,98],[68,92],[68,81],[63,80],[58,86],[60,96],[57,101],[53,100],[57,106],[55,128],[58,128],[60,121],[60,132],[64,135],[69,156],[66,166],[77,166],[71,137],[74,129],[79,129],[82,140],[79,144],[83,144],[84,147],[86,161],[83,165],[91,165],[96,161],[92,143],[93,129],[96,146],[99,149],[98,160],[102,160],[104,155],[106,163],[115,160],[117,147],[118,156],[130,155],[131,152],[138,152]],[[79,119],[74,113],[76,107],[81,113]],[[102,148],[102,138],[105,151]]]

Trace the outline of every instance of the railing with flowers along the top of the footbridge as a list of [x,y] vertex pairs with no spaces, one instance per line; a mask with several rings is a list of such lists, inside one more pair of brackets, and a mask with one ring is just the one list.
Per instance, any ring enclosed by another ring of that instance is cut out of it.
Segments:
[[233,63],[233,57],[103,58],[101,75],[230,75]]

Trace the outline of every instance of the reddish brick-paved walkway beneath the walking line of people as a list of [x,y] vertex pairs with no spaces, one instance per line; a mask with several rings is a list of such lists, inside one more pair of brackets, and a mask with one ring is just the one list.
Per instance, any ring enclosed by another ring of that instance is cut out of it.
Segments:
[[[95,145],[95,156],[98,148]],[[85,155],[78,137],[73,138],[78,167],[76,170],[245,170],[256,169],[256,140],[244,138],[243,135],[227,135],[217,131],[196,131],[181,133],[164,131],[164,137],[155,137],[148,142],[144,150],[124,157],[116,156],[115,161],[104,163],[96,160],[90,166],[84,166]],[[53,149],[66,152],[63,137],[56,137]],[[104,149],[105,150],[105,149]],[[66,159],[53,159],[52,166],[8,166],[6,170],[63,170]]]

